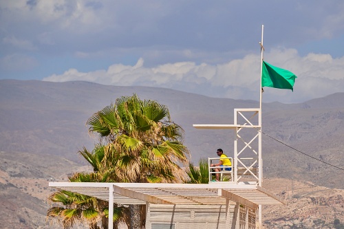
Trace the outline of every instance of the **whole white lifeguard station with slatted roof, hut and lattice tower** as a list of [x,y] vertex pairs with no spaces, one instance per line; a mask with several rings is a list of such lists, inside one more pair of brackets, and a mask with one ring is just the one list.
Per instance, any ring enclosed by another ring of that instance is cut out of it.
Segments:
[[[261,55],[263,49],[261,42]],[[210,179],[208,184],[50,182],[49,186],[109,201],[109,229],[114,204],[146,205],[146,229],[261,228],[261,206],[283,204],[262,187],[261,102],[259,108],[234,109],[233,124],[193,127],[233,130],[232,171],[219,172],[227,179]],[[210,177],[213,174],[210,168]]]

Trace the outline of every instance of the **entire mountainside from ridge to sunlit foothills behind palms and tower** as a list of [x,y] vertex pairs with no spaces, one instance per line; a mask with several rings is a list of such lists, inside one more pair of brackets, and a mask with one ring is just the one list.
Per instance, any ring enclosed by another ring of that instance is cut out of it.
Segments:
[[[0,80],[1,225],[53,228],[45,223],[45,199],[52,193],[47,183],[89,169],[77,153],[97,142],[87,133],[87,118],[133,93],[169,107],[172,120],[184,128],[193,162],[213,157],[217,148],[231,155],[233,132],[200,130],[192,124],[233,124],[233,109],[258,106],[252,100],[154,87]],[[314,228],[335,217],[344,221],[344,173],[328,165],[344,167],[343,121],[342,93],[301,104],[263,104],[264,186],[288,201],[284,208],[264,209],[267,228]]]

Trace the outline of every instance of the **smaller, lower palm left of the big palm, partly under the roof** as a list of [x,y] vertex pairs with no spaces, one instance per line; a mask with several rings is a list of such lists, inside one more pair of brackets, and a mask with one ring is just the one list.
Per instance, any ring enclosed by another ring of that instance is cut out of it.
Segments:
[[[107,171],[102,166],[104,146],[96,144],[92,152],[85,147],[79,151],[87,162],[93,167],[93,173],[74,173],[68,177],[70,182],[112,182],[108,179]],[[64,228],[72,228],[78,221],[87,223],[90,229],[108,228],[109,202],[61,190],[48,197],[52,205],[47,211],[47,219],[54,219],[63,224]],[[114,228],[120,223],[129,223],[129,210],[125,206],[114,205]]]

